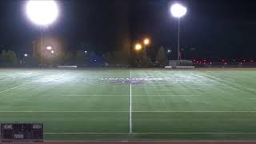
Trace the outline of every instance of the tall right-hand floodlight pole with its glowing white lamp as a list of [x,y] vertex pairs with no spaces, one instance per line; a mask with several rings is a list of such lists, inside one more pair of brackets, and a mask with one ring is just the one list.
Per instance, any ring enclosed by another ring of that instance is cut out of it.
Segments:
[[179,3],[174,3],[170,7],[170,12],[173,17],[178,18],[178,60],[180,60],[180,52],[179,52],[179,25],[180,25],[180,18],[182,18],[186,14],[186,7],[182,6]]

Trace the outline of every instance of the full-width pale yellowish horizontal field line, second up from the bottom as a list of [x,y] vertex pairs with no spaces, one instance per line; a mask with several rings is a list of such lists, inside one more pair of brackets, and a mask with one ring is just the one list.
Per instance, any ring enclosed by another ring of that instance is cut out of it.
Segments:
[[[256,111],[0,111],[0,113],[256,113]],[[131,118],[131,117],[130,117]],[[130,121],[131,122],[131,121]]]

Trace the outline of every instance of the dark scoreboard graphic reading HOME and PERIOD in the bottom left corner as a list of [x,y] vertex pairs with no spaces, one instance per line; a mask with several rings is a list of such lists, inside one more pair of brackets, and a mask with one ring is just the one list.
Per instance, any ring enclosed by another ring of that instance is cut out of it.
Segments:
[[2,142],[11,141],[43,141],[42,123],[2,123]]

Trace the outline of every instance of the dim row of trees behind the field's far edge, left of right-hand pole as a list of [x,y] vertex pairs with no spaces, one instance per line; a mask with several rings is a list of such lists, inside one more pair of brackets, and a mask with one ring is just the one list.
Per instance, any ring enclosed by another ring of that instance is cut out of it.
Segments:
[[[104,54],[97,54],[94,51],[77,50],[59,51],[57,54],[43,55],[42,64],[46,67],[58,65],[85,66],[134,66],[152,67],[165,66],[167,62],[166,50],[161,47],[154,58],[151,58],[145,51],[112,51]],[[17,56],[13,50],[2,50],[0,54],[0,66],[41,66],[40,54],[27,54]]]

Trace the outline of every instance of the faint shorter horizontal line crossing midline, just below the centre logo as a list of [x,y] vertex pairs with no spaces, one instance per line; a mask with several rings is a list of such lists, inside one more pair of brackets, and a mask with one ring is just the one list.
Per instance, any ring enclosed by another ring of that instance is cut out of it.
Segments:
[[[127,97],[128,95],[82,95],[82,94],[79,95],[79,94],[74,94],[74,95],[61,95],[61,96],[62,97]],[[133,97],[201,97],[201,95],[133,95]]]

